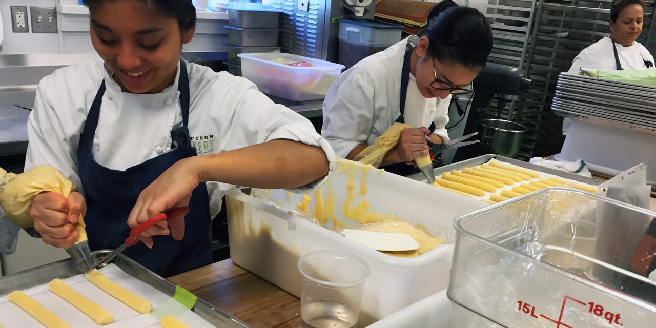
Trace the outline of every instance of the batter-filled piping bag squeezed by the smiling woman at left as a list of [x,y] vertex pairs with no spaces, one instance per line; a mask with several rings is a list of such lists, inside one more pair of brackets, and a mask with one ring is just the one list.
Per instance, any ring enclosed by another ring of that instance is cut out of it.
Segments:
[[[0,207],[3,209],[0,220],[10,220],[19,228],[31,228],[34,222],[30,217],[30,209],[36,195],[56,192],[68,198],[74,191],[75,184],[64,173],[49,165],[33,167],[21,174],[7,173],[0,169]],[[93,259],[82,216],[73,228],[79,233],[79,238],[66,251],[79,270],[88,272],[93,267]]]

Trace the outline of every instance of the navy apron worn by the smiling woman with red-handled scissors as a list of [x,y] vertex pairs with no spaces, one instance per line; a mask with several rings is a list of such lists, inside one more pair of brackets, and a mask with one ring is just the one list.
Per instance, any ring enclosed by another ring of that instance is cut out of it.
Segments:
[[[180,62],[178,81],[183,125],[171,131],[175,149],[125,171],[108,169],[93,159],[92,145],[105,89],[103,80],[87,115],[77,155],[79,175],[87,194],[85,223],[92,251],[123,245],[130,232],[127,218],[142,190],[180,159],[197,155],[188,130],[189,79],[184,62]],[[163,277],[211,264],[211,217],[204,182],[194,189],[189,209],[184,218],[184,239],[177,241],[170,235],[154,236],[152,249],[138,243],[125,249],[123,254]]]

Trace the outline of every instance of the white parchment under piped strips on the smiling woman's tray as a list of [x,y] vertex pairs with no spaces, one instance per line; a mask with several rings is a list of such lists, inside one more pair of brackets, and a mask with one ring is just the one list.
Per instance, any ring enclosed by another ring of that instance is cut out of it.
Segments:
[[[182,306],[182,304],[178,303],[176,300],[173,300],[173,298],[135,277],[126,274],[114,264],[110,264],[100,269],[100,272],[115,283],[150,301],[153,305],[153,310],[150,314],[139,314],[132,310],[127,305],[111,297],[87,281],[87,278],[82,274],[66,278],[64,279],[64,282],[75,289],[75,291],[90,298],[111,312],[114,321],[109,325],[97,326],[91,318],[85,316],[85,314],[74,308],[71,304],[68,304],[68,302],[62,298],[51,293],[48,290],[47,284],[26,289],[24,292],[34,298],[37,302],[41,303],[41,305],[54,312],[54,314],[64,319],[64,321],[73,328],[159,327],[159,319],[163,315],[175,316],[190,327],[194,328],[214,327],[188,308]],[[5,328],[43,327],[39,321],[32,318],[29,314],[18,308],[18,306],[11,304],[9,300],[7,300],[7,295],[0,297],[0,325],[3,325]]]

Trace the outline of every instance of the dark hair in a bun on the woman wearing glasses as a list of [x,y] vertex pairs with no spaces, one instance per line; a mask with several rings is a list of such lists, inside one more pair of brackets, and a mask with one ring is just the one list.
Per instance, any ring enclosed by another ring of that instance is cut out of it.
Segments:
[[482,68],[492,51],[492,28],[483,14],[442,0],[428,12],[428,49],[440,62]]

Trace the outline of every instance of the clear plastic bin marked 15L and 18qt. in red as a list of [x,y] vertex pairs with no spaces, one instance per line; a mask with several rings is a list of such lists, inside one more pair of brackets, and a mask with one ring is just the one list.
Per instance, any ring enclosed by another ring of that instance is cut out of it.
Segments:
[[448,289],[453,327],[653,327],[656,281],[632,272],[630,260],[655,216],[566,188],[460,216]]

